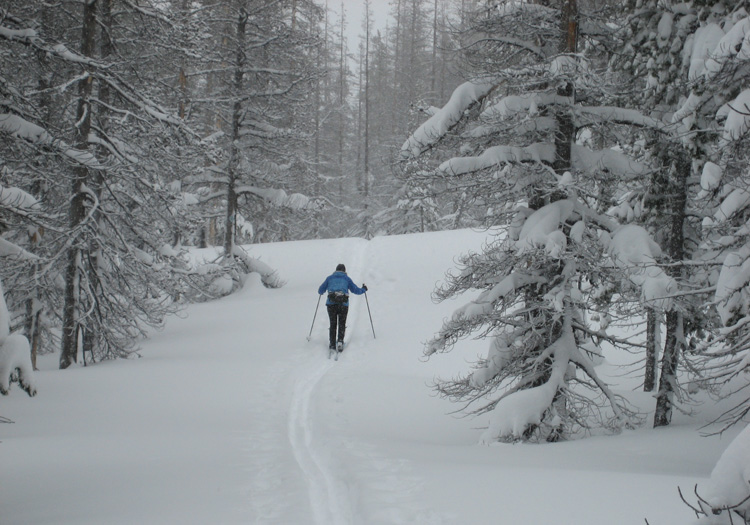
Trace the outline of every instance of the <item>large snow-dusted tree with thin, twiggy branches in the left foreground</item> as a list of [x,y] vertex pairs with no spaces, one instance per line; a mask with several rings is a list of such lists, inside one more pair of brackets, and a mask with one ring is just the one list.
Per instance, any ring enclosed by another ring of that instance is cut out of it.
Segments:
[[[120,11],[115,22],[108,1],[87,2],[70,13],[71,32],[59,21],[68,19],[56,16],[61,8],[34,7],[7,14],[0,30],[0,43],[13,50],[3,56],[15,64],[3,78],[13,96],[4,101],[0,132],[13,152],[3,156],[4,192],[15,186],[39,202],[21,213],[8,192],[3,212],[14,228],[6,235],[38,263],[23,273],[3,270],[12,311],[25,304],[32,348],[40,325],[62,328],[65,368],[81,349],[96,358],[128,354],[174,310],[187,285],[173,246],[185,208],[160,168],[180,165],[176,143],[198,148],[195,134],[160,103],[157,70],[146,67],[149,36],[169,28],[164,13],[142,5]],[[117,61],[110,61],[113,46]],[[44,77],[49,96],[15,74],[26,63],[40,78],[54,72]]]

